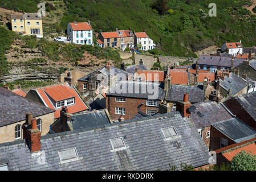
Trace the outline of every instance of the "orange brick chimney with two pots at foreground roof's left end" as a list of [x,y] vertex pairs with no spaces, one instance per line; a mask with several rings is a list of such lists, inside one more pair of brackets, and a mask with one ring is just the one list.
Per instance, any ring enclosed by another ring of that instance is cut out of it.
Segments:
[[23,139],[26,139],[27,145],[29,146],[29,149],[31,152],[37,152],[41,149],[41,132],[38,130],[36,126],[36,119],[31,119],[31,124],[29,118],[32,116],[31,113],[26,113],[26,123],[23,124],[22,130],[23,130]]

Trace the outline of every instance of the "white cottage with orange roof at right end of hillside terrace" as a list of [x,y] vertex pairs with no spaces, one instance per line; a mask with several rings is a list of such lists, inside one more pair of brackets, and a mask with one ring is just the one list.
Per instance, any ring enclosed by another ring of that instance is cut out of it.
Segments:
[[146,31],[143,32],[134,32],[135,36],[135,47],[141,45],[141,50],[148,51],[156,48],[156,44],[153,43],[153,40],[149,38],[146,34]]

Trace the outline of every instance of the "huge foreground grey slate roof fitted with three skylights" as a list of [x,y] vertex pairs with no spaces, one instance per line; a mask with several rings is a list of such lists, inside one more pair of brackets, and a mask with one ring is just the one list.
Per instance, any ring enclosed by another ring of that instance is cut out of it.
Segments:
[[[177,138],[164,140],[161,129],[173,126]],[[123,137],[127,149],[112,151],[109,139]],[[41,137],[40,152],[30,153],[25,140],[0,144],[10,170],[157,170],[169,164],[208,164],[208,149],[189,118],[179,112]],[[58,151],[76,147],[79,160],[61,164]]]

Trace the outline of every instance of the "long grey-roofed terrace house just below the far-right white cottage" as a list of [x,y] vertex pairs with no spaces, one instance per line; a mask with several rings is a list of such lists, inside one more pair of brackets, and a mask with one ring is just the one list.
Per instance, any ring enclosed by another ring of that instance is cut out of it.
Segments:
[[231,69],[243,63],[243,59],[229,56],[201,55],[197,64],[202,70],[210,70],[214,73],[217,70]]

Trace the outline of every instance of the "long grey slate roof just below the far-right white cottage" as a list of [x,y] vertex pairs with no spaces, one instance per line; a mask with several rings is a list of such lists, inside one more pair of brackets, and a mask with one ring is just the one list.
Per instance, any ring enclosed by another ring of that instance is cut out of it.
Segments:
[[[225,56],[216,56],[216,55],[202,55],[200,56],[197,64],[203,65],[214,65],[219,67],[231,67],[232,57]],[[233,67],[237,67],[238,65],[243,63],[243,59],[234,58]]]

